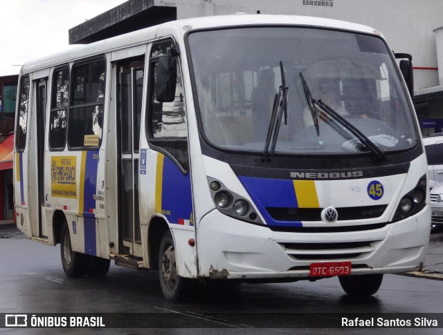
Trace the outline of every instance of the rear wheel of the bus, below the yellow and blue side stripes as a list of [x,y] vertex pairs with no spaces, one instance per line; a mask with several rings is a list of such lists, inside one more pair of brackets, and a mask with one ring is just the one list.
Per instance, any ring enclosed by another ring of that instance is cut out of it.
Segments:
[[71,236],[69,236],[69,227],[66,220],[62,225],[60,255],[62,256],[62,266],[66,277],[80,278],[87,274],[91,264],[91,256],[72,251]]

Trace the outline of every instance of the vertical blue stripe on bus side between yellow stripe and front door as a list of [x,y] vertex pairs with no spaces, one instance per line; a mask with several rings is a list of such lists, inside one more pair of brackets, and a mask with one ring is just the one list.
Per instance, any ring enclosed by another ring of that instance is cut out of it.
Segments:
[[96,200],[94,195],[97,189],[97,169],[98,169],[98,151],[87,151],[86,162],[84,164],[84,192],[83,192],[83,211],[84,211],[84,253],[88,255],[97,255],[96,241]]

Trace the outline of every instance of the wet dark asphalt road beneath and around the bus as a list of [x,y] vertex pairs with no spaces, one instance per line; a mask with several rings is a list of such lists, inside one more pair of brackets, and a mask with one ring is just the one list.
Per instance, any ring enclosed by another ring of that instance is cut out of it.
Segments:
[[[273,328],[273,334],[442,332],[441,328],[325,328],[331,313],[442,313],[442,280],[386,275],[377,294],[364,299],[346,296],[337,278],[215,285],[199,289],[188,303],[173,304],[163,300],[156,271],[111,264],[105,278],[66,278],[58,246],[30,241],[15,230],[0,230],[0,237],[0,313],[163,313],[155,329],[63,329],[64,334],[147,334],[148,330],[149,334],[270,334],[265,328]],[[323,328],[305,328],[316,324]],[[3,333],[60,334],[60,329],[0,328]]]

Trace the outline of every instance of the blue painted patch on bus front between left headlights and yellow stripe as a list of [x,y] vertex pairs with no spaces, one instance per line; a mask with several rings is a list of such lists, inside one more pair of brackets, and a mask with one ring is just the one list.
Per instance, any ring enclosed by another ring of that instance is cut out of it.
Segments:
[[298,208],[292,180],[252,178],[239,176],[255,206],[270,226],[302,227],[300,221],[274,220],[266,207]]

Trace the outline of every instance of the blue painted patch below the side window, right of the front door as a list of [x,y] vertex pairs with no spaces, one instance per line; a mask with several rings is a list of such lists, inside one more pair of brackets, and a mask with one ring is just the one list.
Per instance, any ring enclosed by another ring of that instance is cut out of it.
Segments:
[[190,220],[192,213],[190,173],[183,175],[166,156],[163,161],[161,209],[170,223],[179,223],[180,219]]

